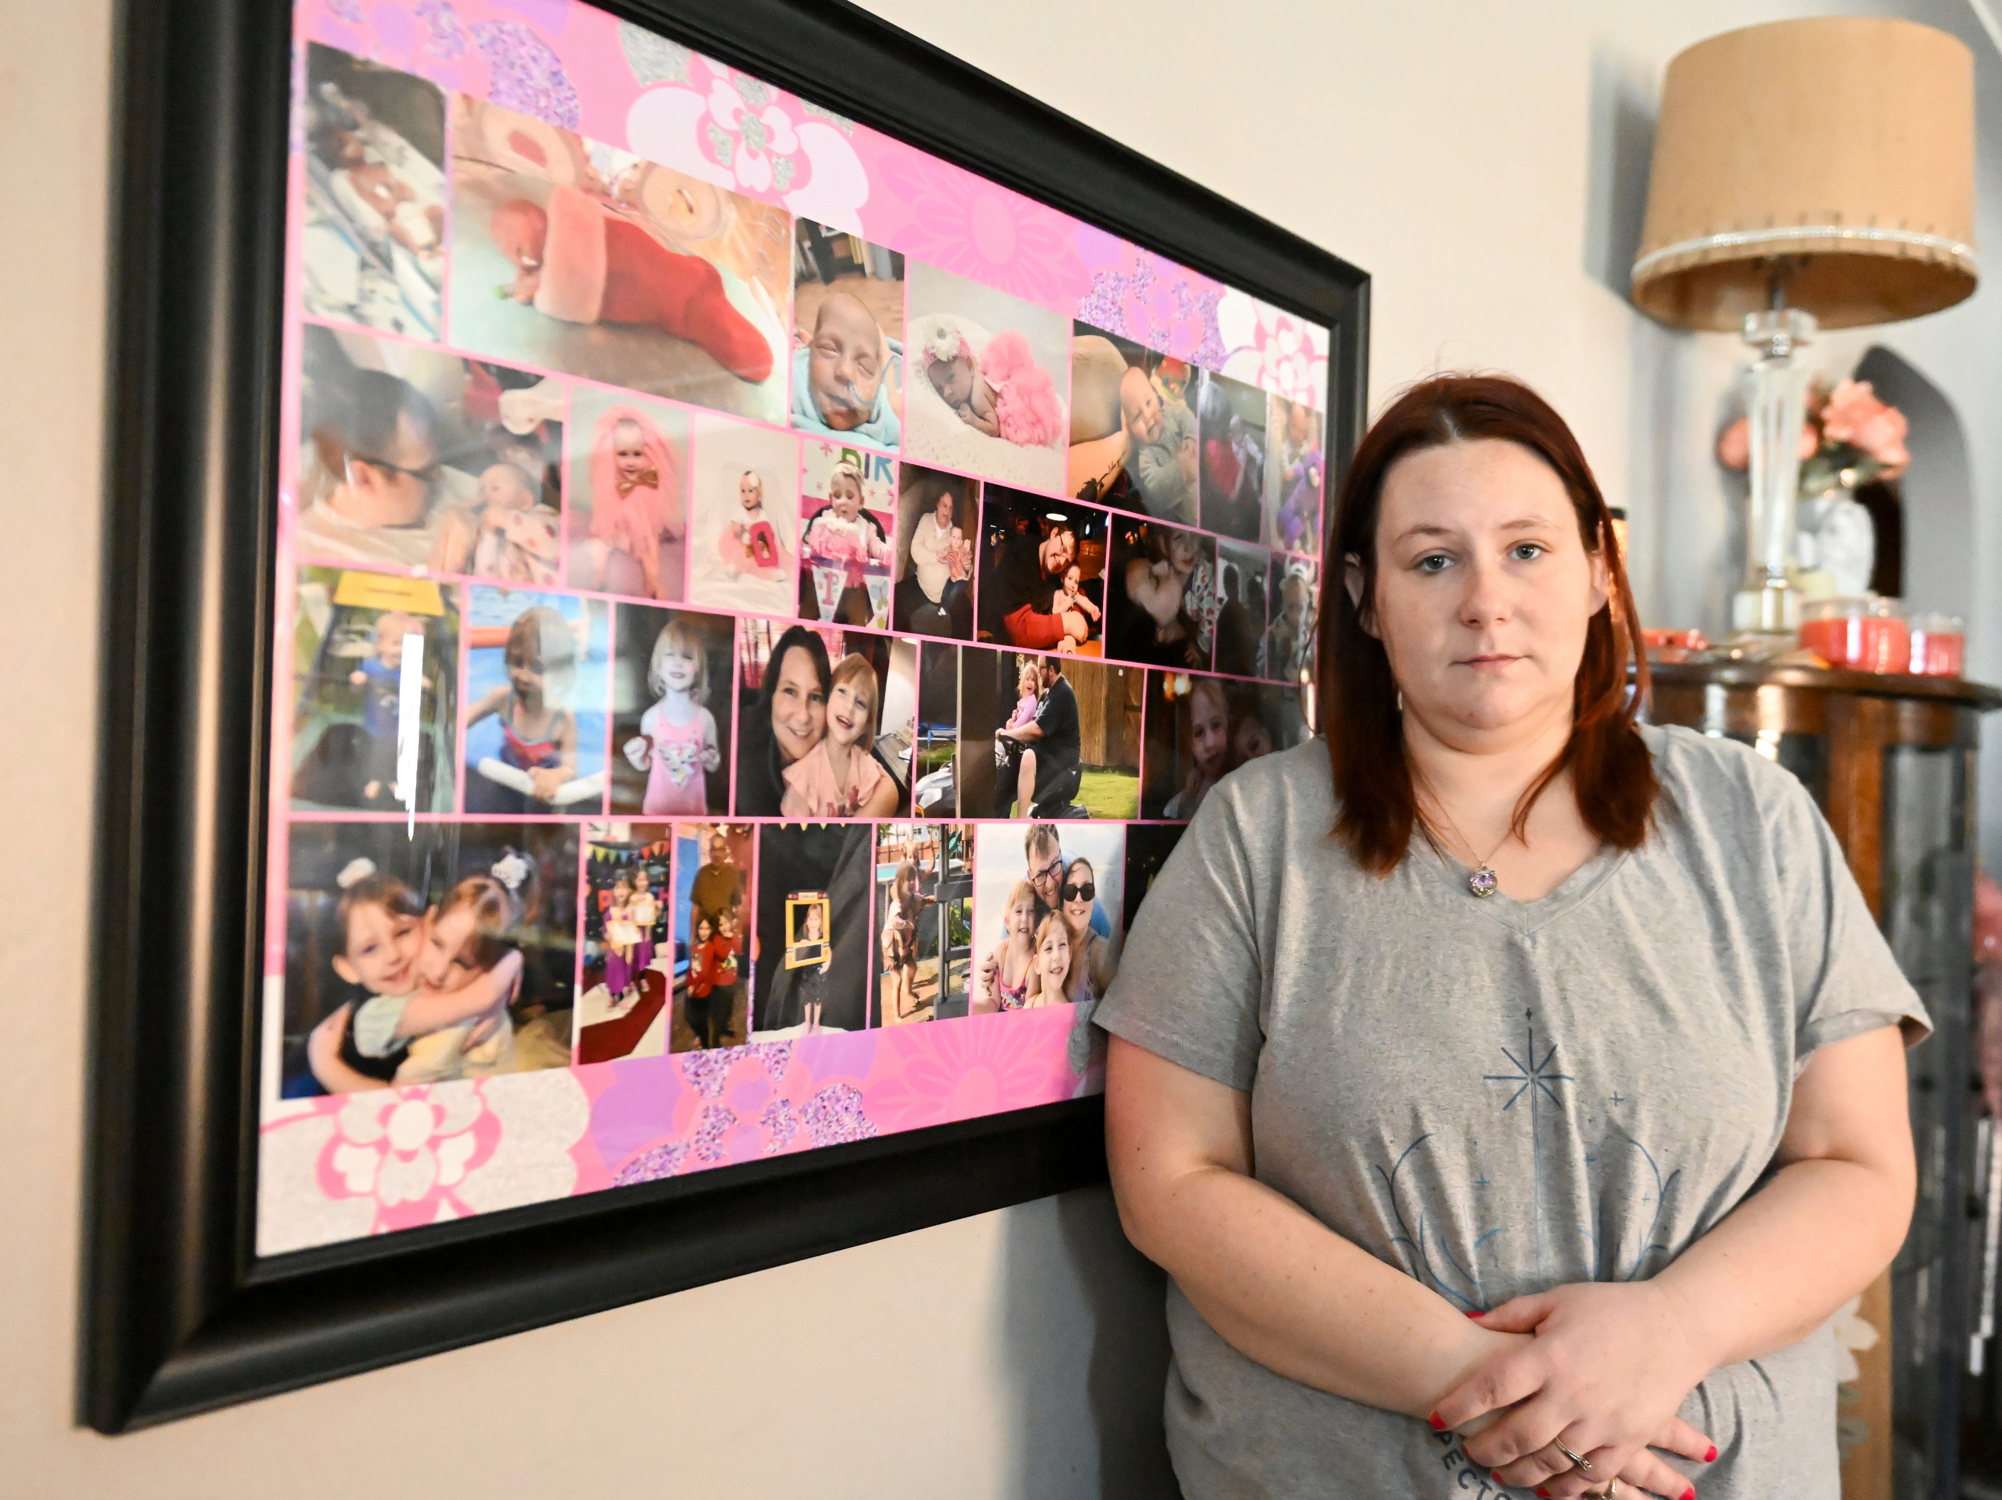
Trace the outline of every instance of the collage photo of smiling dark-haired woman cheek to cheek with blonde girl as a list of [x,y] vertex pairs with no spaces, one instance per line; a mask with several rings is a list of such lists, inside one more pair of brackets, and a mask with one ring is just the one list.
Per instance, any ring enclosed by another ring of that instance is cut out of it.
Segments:
[[[841,684],[839,722],[829,724],[835,696],[835,660],[871,662],[865,680],[857,668]],[[873,658],[881,654],[881,670]],[[745,818],[809,816],[787,812],[785,800],[823,796],[829,786],[855,800],[853,812],[813,814],[849,818],[895,818],[909,810],[909,756],[885,754],[877,722],[889,672],[891,644],[883,636],[863,636],[813,626],[787,626],[771,640],[771,624],[745,620],[739,644],[737,710],[737,814]],[[915,662],[913,662],[915,676]],[[873,704],[863,700],[875,694]],[[915,712],[903,712],[905,728]],[[835,744],[827,744],[833,732]],[[839,764],[835,764],[839,760]]]

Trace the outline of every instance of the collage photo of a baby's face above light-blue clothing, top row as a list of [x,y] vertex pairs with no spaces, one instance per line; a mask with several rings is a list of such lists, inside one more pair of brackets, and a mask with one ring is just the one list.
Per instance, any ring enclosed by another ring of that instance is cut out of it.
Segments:
[[793,426],[895,452],[903,256],[811,218],[795,222],[793,238]]

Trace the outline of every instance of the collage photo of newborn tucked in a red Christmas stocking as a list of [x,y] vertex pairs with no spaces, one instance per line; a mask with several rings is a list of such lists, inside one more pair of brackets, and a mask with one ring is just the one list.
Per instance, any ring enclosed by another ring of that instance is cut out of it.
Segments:
[[456,344],[785,424],[783,208],[452,98]]

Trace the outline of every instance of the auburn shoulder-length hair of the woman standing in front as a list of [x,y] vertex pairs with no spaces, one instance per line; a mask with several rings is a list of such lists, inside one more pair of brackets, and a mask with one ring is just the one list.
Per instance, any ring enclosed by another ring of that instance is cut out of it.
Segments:
[[[1578,536],[1588,554],[1606,560],[1610,580],[1606,606],[1586,628],[1586,654],[1572,688],[1572,738],[1524,790],[1512,828],[1518,836],[1524,832],[1536,800],[1564,772],[1572,774],[1586,826],[1614,848],[1638,848],[1654,822],[1660,782],[1634,728],[1648,700],[1648,658],[1634,660],[1638,690],[1628,692],[1638,628],[1634,590],[1592,466],[1564,418],[1520,380],[1433,376],[1397,396],[1357,444],[1335,500],[1333,538],[1321,570],[1319,720],[1341,808],[1333,832],[1355,862],[1377,876],[1397,868],[1421,820],[1397,684],[1383,642],[1363,630],[1361,608],[1349,598],[1345,564],[1355,562],[1361,570],[1363,604],[1375,600],[1377,514],[1389,470],[1425,448],[1483,438],[1522,444],[1556,470],[1578,512]],[[1423,832],[1427,838],[1437,834]]]

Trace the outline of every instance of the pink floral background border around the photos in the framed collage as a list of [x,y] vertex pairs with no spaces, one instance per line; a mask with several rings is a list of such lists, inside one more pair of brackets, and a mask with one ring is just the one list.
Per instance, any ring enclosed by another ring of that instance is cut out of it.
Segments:
[[[1295,402],[1327,408],[1327,330],[573,0],[306,0],[296,38],[418,74],[779,204]],[[298,166],[294,160],[294,204]],[[292,234],[296,236],[296,214]],[[296,268],[296,254],[290,262]],[[294,272],[296,276],[296,272]],[[296,450],[288,298],[284,450]],[[286,486],[288,488],[288,486]],[[274,702],[286,700],[280,506]],[[270,764],[288,764],[276,714]],[[274,796],[266,1048],[284,982]],[[1067,1100],[1067,1010],[829,1032],[262,1110],[258,1254]],[[266,1076],[274,1056],[266,1052]]]

